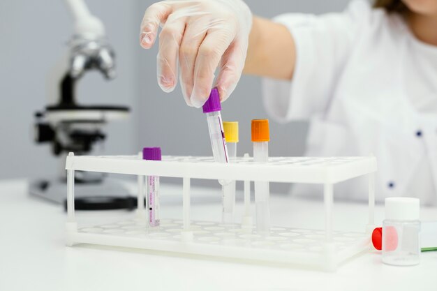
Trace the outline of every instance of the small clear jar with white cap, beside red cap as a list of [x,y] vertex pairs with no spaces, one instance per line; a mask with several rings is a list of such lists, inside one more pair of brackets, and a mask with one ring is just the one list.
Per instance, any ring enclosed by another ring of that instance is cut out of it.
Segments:
[[385,199],[383,262],[396,266],[420,263],[420,200],[408,197]]

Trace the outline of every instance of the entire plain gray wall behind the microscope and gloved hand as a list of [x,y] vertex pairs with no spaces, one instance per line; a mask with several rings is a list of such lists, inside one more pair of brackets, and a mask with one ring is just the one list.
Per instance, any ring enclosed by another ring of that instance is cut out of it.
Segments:
[[[273,17],[285,12],[325,13],[342,10],[349,0],[248,0],[253,13]],[[161,146],[165,154],[209,155],[207,123],[201,110],[187,107],[179,86],[165,94],[156,83],[156,47],[138,45],[139,24],[154,1],[88,0],[103,20],[117,52],[118,77],[106,82],[98,73],[81,81],[83,103],[123,104],[132,108],[128,121],[108,125],[104,154],[133,154]],[[64,1],[0,1],[0,179],[41,177],[58,165],[47,146],[31,141],[36,110],[45,106],[45,75],[66,49],[73,23]],[[239,154],[251,152],[250,121],[266,118],[260,80],[242,77],[223,104],[223,119],[240,124]],[[250,107],[246,104],[251,104]],[[245,110],[241,110],[245,108]],[[272,156],[300,155],[306,124],[271,122]]]

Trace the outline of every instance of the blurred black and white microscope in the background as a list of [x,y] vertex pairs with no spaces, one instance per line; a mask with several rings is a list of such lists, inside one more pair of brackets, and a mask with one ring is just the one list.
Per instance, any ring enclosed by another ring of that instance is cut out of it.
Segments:
[[[83,0],[66,0],[75,20],[75,33],[68,52],[47,78],[48,104],[36,112],[34,138],[49,143],[59,160],[59,174],[54,179],[40,179],[30,186],[31,195],[65,203],[68,152],[89,154],[103,143],[103,127],[108,121],[126,119],[129,108],[111,105],[82,105],[77,102],[76,85],[87,72],[98,70],[107,80],[115,73],[114,52],[105,37],[103,24],[91,15]],[[101,173],[75,172],[76,209],[131,208],[128,186]]]

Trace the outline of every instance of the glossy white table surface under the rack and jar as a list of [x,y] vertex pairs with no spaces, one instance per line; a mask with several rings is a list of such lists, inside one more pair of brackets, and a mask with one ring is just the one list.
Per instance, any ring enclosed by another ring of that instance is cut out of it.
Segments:
[[[161,193],[179,195],[179,188],[163,186]],[[195,220],[218,221],[217,203],[196,203]],[[205,195],[218,197],[218,188]],[[163,199],[168,200],[165,197]],[[182,200],[181,200],[182,201]],[[164,218],[181,218],[182,206],[161,207]],[[272,224],[323,228],[323,204],[272,195]],[[242,203],[237,204],[237,217]],[[80,223],[128,218],[126,211],[76,211]],[[366,205],[334,204],[334,229],[361,231]],[[437,209],[422,208],[422,220],[437,220]],[[287,219],[285,219],[287,218]],[[383,207],[376,208],[376,223]],[[381,263],[373,251],[343,264],[335,273],[232,260],[209,260],[127,248],[64,246],[66,214],[27,194],[25,181],[0,182],[0,290],[437,290],[437,252],[423,253],[415,267]]]

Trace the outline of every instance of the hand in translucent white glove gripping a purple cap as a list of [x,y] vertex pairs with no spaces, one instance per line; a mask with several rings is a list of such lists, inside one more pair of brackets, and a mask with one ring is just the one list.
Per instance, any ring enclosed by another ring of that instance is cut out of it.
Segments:
[[[242,74],[252,14],[242,0],[161,1],[147,8],[140,43],[150,48],[159,35],[158,84],[165,92],[180,82],[185,101],[201,107],[214,83],[221,100],[234,91]],[[178,61],[179,60],[179,61]],[[178,64],[179,63],[179,64]]]

